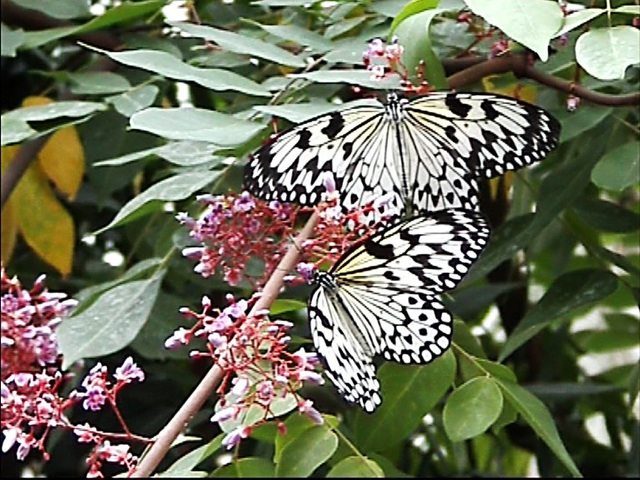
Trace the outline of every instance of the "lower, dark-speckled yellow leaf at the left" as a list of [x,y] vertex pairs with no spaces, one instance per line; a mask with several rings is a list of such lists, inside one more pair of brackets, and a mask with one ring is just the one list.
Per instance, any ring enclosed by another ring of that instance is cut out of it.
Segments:
[[63,276],[71,272],[75,227],[37,163],[24,173],[11,196],[24,241]]

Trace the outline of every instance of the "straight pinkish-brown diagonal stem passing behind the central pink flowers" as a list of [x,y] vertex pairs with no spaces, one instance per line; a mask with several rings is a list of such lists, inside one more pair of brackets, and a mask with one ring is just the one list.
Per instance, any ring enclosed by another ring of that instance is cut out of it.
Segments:
[[[300,231],[294,243],[289,247],[287,253],[280,261],[280,264],[269,278],[269,281],[262,290],[262,296],[256,301],[249,312],[249,316],[263,309],[268,309],[278,297],[280,289],[284,283],[285,275],[290,272],[298,261],[300,255],[300,245],[313,233],[313,229],[318,223],[318,215],[314,213],[309,221]],[[214,390],[222,379],[223,371],[218,365],[214,365],[205,375],[202,381],[184,402],[182,407],[176,412],[174,417],[167,423],[156,436],[154,444],[140,460],[136,469],[131,473],[131,477],[149,477],[160,461],[165,457],[171,444],[178,434],[187,426],[193,416],[200,410],[206,400],[211,398]]]

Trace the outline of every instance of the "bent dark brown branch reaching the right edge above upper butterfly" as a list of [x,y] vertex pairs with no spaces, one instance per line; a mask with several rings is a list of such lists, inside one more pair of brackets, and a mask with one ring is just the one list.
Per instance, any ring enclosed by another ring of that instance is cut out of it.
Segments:
[[447,81],[450,88],[460,88],[480,81],[487,75],[513,72],[518,77],[530,78],[541,85],[555,90],[575,95],[598,105],[615,107],[640,105],[640,93],[613,95],[589,90],[569,80],[563,80],[548,73],[541,72],[530,66],[524,55],[508,55],[492,58],[478,63],[461,72],[451,75]]

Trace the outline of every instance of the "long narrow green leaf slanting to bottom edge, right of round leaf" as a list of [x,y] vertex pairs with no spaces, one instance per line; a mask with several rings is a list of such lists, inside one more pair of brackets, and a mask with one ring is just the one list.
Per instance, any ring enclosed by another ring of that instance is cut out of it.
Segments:
[[562,443],[553,418],[544,403],[516,383],[500,378],[496,378],[496,382],[502,390],[504,399],[518,411],[571,474],[574,477],[582,476]]

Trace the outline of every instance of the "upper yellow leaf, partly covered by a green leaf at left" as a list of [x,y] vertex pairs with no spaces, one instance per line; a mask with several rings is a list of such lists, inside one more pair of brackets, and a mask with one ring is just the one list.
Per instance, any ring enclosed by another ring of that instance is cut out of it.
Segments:
[[[23,106],[47,105],[47,97],[27,97]],[[75,127],[61,128],[47,140],[38,153],[38,162],[53,184],[73,200],[84,175],[84,150]]]

